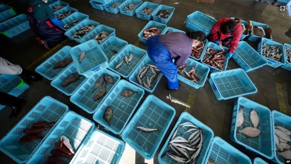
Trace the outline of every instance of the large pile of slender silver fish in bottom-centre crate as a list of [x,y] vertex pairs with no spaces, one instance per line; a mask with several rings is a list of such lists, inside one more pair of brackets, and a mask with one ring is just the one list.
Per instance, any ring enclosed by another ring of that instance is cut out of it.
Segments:
[[[182,134],[178,133],[178,135],[183,136],[184,134],[191,132],[188,139],[185,139],[182,136],[176,137],[178,129],[182,127],[189,128]],[[182,123],[178,125],[178,128],[174,131],[169,141],[169,147],[171,147],[172,150],[166,151],[161,158],[168,156],[179,163],[195,164],[201,152],[203,142],[204,138],[202,129],[198,128],[191,122]]]

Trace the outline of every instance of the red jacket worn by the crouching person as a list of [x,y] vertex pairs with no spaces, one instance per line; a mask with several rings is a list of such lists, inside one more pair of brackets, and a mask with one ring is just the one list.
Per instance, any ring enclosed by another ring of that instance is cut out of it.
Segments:
[[[218,20],[217,22],[214,23],[214,25],[211,28],[211,41],[215,43],[215,40],[223,40],[227,37],[229,37],[231,34],[233,34],[233,37],[231,38],[230,42],[229,42],[229,48],[228,48],[228,52],[229,53],[233,53],[235,51],[235,49],[238,46],[240,37],[242,36],[242,26],[241,24],[237,24],[237,27],[235,27],[235,30],[233,32],[229,32],[227,34],[223,34],[220,30],[221,24],[225,23],[226,21],[231,20],[231,18],[221,18],[220,20]],[[218,37],[218,34],[220,35],[220,38]]]

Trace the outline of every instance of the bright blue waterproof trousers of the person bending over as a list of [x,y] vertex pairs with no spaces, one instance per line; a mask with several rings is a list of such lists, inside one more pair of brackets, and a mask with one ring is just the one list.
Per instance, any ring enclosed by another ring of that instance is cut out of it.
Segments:
[[168,82],[168,89],[179,88],[177,67],[172,61],[170,51],[160,41],[160,36],[152,36],[146,43],[146,50],[148,51],[148,57],[166,76]]

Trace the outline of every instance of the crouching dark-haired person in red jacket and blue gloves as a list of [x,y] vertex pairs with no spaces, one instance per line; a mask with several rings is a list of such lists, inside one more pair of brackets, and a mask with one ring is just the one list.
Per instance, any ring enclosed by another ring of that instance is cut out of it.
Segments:
[[221,18],[214,23],[211,34],[208,36],[210,41],[215,42],[218,46],[219,42],[222,42],[222,46],[227,46],[229,43],[228,53],[226,54],[228,58],[232,56],[242,36],[241,21],[240,18]]

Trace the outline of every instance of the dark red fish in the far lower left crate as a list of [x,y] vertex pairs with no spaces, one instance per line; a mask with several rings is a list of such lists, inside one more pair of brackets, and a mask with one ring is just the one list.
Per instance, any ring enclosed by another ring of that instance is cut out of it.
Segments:
[[[19,139],[19,142],[31,142],[36,139],[43,139],[43,136],[37,135],[37,133],[52,128],[55,123],[56,122],[45,122],[45,121],[33,123],[31,125],[32,128],[29,128],[23,131],[27,135],[24,135],[23,137],[21,137]],[[47,125],[52,125],[52,126],[47,126]]]

